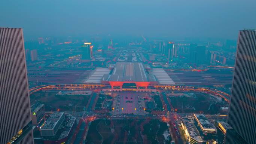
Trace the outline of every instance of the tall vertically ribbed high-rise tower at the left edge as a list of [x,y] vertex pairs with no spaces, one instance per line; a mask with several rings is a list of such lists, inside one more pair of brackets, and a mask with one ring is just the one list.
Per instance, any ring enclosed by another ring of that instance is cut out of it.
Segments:
[[0,144],[33,144],[22,28],[0,28]]

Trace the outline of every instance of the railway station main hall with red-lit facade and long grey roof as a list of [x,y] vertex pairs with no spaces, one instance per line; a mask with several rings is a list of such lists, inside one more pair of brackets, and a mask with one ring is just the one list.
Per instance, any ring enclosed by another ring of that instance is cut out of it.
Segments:
[[144,65],[139,62],[117,62],[112,74],[105,76],[102,83],[109,84],[106,91],[153,92],[149,85],[158,84],[155,77],[146,73]]

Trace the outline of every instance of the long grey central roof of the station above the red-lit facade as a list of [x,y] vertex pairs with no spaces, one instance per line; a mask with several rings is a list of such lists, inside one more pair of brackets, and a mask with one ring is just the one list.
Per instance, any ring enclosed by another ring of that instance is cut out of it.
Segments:
[[109,81],[149,82],[141,62],[117,62]]

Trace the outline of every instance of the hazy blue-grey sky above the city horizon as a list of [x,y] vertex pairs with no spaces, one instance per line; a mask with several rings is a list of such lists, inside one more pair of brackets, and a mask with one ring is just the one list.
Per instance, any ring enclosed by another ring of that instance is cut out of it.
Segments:
[[237,39],[256,28],[256,0],[1,0],[0,27],[25,38],[97,33]]

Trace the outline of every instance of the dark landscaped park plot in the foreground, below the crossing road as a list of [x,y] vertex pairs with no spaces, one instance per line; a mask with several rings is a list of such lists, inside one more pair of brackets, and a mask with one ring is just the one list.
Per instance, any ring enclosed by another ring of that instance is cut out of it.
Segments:
[[86,144],[164,144],[167,124],[159,120],[106,120],[91,123]]

